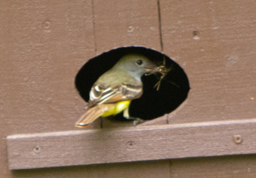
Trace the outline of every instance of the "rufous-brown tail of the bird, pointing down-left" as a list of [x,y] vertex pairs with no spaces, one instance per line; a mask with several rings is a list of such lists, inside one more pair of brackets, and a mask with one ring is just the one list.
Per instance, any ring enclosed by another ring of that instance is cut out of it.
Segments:
[[98,117],[100,117],[104,112],[108,111],[108,105],[96,105],[90,108],[86,113],[84,113],[78,121],[76,121],[76,127],[86,127],[91,124]]

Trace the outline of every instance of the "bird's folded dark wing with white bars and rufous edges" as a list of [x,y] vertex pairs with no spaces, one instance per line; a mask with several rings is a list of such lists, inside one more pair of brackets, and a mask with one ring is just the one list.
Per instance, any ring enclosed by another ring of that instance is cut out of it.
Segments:
[[115,86],[96,84],[90,91],[89,107],[140,98],[142,86],[122,83]]

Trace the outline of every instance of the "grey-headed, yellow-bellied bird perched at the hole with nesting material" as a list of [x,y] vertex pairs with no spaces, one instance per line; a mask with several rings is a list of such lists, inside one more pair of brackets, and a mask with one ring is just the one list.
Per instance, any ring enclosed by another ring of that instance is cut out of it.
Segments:
[[142,55],[123,56],[94,83],[89,93],[89,110],[79,118],[75,126],[84,127],[100,116],[108,117],[122,111],[124,118],[139,121],[139,118],[129,116],[130,102],[142,95],[141,77],[157,71],[158,66]]

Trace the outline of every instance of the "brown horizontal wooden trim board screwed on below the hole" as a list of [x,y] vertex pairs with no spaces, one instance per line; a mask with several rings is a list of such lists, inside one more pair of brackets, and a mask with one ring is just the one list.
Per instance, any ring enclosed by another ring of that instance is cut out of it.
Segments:
[[256,119],[7,137],[10,169],[256,153]]

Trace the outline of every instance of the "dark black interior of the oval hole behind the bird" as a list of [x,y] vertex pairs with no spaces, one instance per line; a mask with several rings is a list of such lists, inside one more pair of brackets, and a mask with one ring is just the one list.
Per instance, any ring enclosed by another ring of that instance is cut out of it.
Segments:
[[[141,54],[152,61],[163,61],[171,67],[170,72],[161,81],[157,91],[154,85],[159,78],[156,75],[142,77],[143,94],[141,98],[132,100],[129,114],[145,120],[160,117],[176,109],[186,98],[190,89],[184,70],[172,59],[153,49],[145,47],[121,47],[100,54],[83,65],[75,78],[75,86],[81,97],[88,102],[89,92],[95,81],[126,54]],[[115,119],[124,120],[122,113]]]

